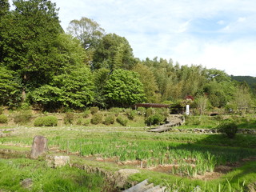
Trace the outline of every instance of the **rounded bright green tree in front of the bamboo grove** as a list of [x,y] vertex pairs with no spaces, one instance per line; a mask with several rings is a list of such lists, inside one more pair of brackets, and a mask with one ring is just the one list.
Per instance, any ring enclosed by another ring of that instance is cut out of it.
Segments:
[[129,70],[114,70],[106,82],[105,97],[111,106],[126,106],[145,101],[138,74]]

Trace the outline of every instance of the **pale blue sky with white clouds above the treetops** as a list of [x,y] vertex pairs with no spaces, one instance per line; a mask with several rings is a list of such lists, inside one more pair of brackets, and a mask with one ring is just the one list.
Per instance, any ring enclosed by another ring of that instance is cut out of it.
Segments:
[[254,0],[52,0],[64,30],[94,19],[125,37],[136,58],[172,58],[227,74],[256,77]]

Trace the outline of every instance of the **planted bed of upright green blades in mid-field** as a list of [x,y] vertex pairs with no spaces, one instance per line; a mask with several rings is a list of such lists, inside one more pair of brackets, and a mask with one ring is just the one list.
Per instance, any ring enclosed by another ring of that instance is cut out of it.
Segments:
[[55,140],[52,145],[82,156],[117,158],[118,161],[143,162],[143,166],[171,165],[171,172],[195,176],[214,171],[215,166],[238,162],[256,154],[255,150],[199,146],[162,141],[126,141],[118,138]]

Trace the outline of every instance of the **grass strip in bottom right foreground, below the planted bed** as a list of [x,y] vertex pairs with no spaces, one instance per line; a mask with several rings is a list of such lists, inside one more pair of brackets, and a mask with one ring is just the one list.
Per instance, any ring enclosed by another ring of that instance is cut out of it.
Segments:
[[[175,175],[162,174],[145,170],[141,173],[130,176],[131,180],[142,182],[150,178],[150,182],[155,185],[164,185],[168,187],[167,191],[204,191],[204,192],[238,192],[247,191],[246,186],[255,182],[256,162],[247,162],[246,165],[234,169],[221,178],[202,181],[199,179],[180,178]],[[249,191],[249,190],[248,190]]]

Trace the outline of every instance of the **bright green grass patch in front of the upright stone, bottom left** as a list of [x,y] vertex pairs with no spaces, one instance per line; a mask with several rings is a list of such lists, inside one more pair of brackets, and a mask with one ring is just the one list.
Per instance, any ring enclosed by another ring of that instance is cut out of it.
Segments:
[[[3,191],[103,191],[107,186],[98,174],[65,166],[51,169],[45,162],[26,158],[0,159],[0,189]],[[31,190],[20,182],[31,178]]]

